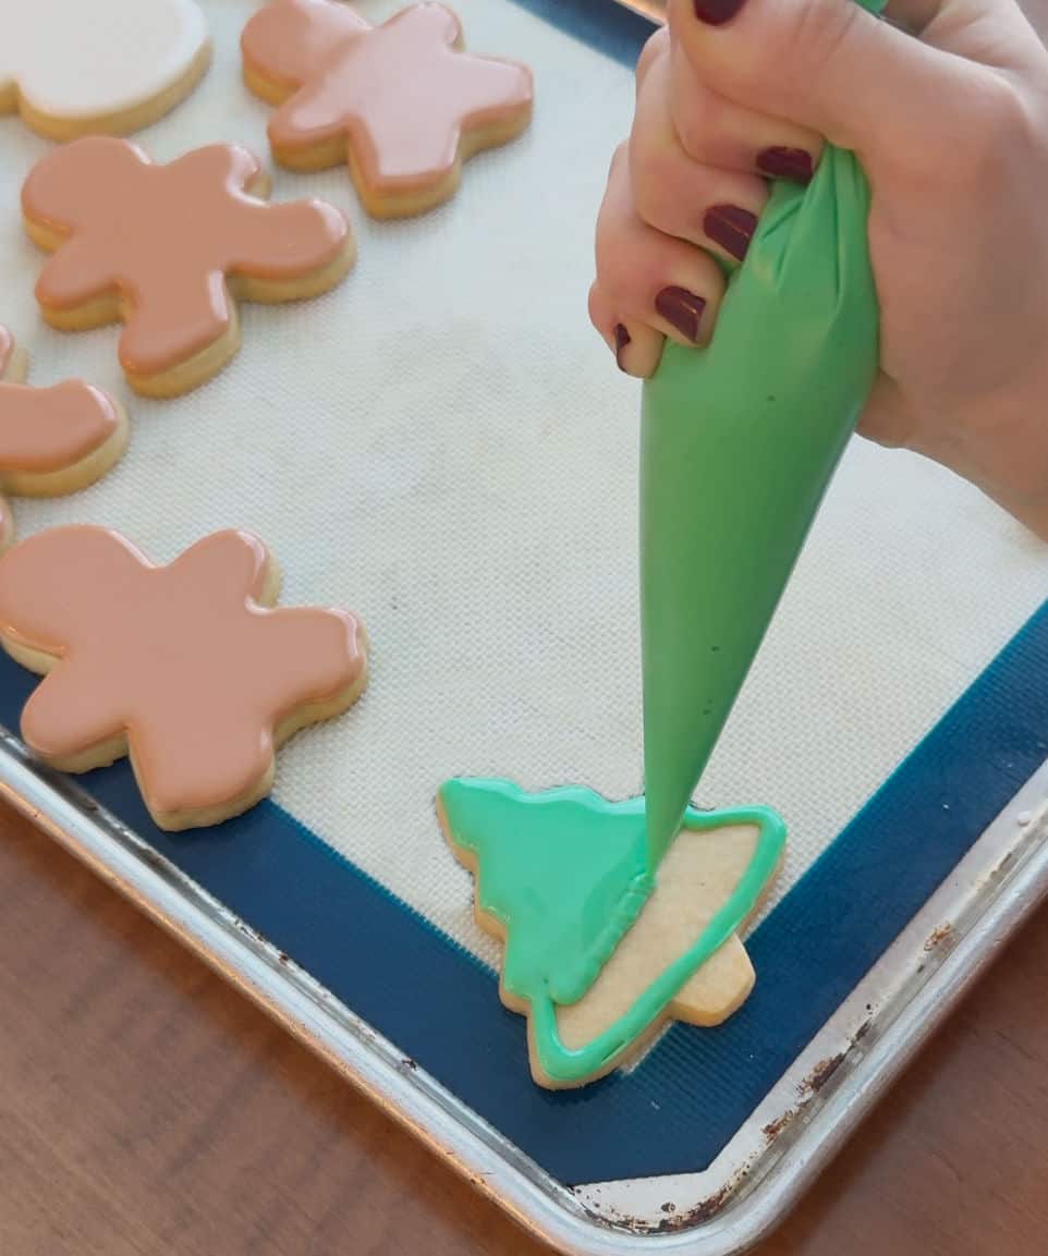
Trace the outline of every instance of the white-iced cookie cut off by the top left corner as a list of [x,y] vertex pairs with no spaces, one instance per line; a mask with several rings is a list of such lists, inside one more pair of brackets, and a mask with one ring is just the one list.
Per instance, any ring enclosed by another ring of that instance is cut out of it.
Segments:
[[0,112],[52,139],[138,131],[207,68],[196,0],[0,0]]

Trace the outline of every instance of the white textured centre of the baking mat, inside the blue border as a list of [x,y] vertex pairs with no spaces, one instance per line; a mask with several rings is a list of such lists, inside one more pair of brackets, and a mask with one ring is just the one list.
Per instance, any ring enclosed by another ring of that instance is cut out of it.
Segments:
[[[268,156],[269,109],[240,82],[255,5],[206,8],[212,69],[138,139],[160,160],[220,139]],[[641,786],[640,397],[586,319],[592,222],[632,82],[510,0],[456,8],[472,49],[534,68],[533,128],[412,222],[368,222],[344,171],[278,171],[275,198],[349,212],[359,261],[320,300],[244,306],[244,348],[210,386],[128,398],[114,329],[43,325],[18,196],[48,144],[13,119],[0,123],[0,322],[30,350],[31,379],[82,374],[133,423],[99,485],[16,501],[19,534],[99,522],[166,560],[248,528],[274,549],[287,603],[359,610],[371,688],[281,754],[276,800],[490,960],[470,878],[437,831],[440,781]],[[783,811],[782,893],[1045,593],[1048,548],[946,472],[854,442],[700,803]]]

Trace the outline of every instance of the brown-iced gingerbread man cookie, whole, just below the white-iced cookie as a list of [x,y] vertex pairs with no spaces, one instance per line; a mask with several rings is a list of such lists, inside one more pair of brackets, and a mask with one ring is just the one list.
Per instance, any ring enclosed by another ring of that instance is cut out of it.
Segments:
[[128,383],[171,397],[240,345],[236,298],[285,301],[333,288],[353,263],[343,215],[323,201],[270,205],[244,148],[212,144],[167,166],[127,139],[90,136],[34,166],[26,230],[54,251],[36,284],[52,327],[122,320]]

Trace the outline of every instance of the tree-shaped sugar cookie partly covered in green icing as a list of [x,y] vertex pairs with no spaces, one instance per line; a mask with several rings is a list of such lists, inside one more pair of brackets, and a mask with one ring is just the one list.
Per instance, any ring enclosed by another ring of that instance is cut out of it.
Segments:
[[602,1076],[669,1020],[719,1025],[753,988],[738,931],[782,855],[774,811],[690,810],[655,875],[643,799],[452,780],[437,814],[476,877],[478,922],[504,942],[499,993],[528,1017],[539,1085]]

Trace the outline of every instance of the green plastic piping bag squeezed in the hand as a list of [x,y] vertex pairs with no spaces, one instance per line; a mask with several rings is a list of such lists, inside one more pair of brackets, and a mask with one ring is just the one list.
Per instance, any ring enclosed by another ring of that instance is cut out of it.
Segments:
[[777,183],[710,345],[667,342],[645,384],[650,870],[681,826],[877,373],[868,210],[858,161],[832,146],[807,188]]

